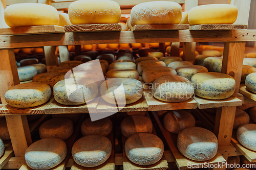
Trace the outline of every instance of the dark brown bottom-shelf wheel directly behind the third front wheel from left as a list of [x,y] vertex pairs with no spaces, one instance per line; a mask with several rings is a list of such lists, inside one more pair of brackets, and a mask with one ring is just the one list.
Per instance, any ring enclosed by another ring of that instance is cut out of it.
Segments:
[[124,118],[120,125],[123,136],[130,137],[139,132],[152,133],[151,119],[142,115],[131,115]]

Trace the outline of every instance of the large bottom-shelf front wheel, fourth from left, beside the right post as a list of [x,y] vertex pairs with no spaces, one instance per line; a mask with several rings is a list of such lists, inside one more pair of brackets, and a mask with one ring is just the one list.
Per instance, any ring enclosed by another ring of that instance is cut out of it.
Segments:
[[189,159],[206,161],[217,154],[218,139],[207,129],[191,127],[179,133],[177,147],[181,154]]

